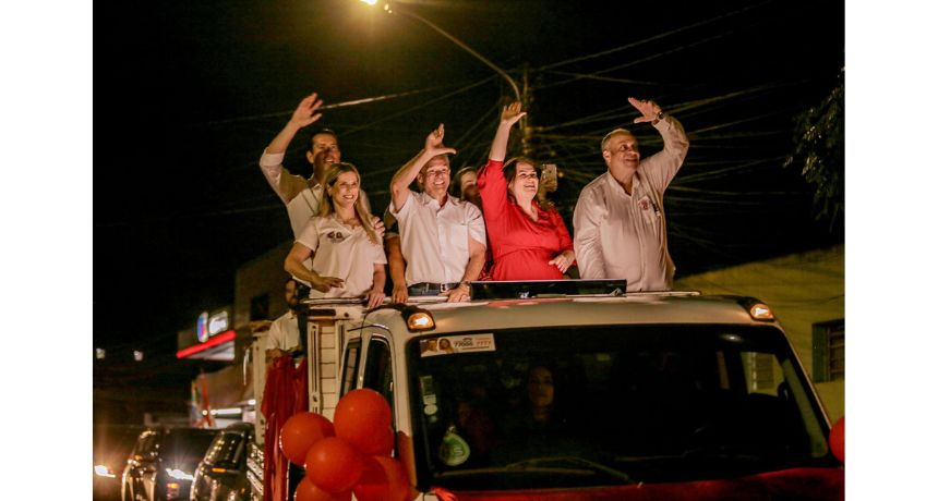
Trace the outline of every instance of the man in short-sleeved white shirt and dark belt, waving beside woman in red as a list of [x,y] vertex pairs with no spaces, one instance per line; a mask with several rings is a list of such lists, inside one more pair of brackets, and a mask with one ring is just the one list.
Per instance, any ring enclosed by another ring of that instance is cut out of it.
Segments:
[[[400,229],[407,262],[407,295],[447,295],[449,302],[469,300],[469,282],[479,278],[485,261],[485,222],[474,205],[449,196],[449,158],[456,150],[443,146],[443,124],[430,133],[424,148],[401,167],[390,181],[390,213]],[[420,193],[409,186],[417,180]]]

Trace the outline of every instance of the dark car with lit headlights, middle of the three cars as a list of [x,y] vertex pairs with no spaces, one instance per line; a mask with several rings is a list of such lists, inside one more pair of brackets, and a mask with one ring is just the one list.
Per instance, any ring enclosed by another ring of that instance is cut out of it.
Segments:
[[189,499],[193,473],[216,430],[147,429],[137,438],[122,477],[123,501]]

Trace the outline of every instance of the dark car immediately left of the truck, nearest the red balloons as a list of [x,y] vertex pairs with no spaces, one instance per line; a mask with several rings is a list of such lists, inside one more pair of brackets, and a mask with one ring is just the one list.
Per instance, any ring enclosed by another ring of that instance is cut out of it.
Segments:
[[248,492],[248,444],[254,426],[236,423],[215,435],[205,457],[195,468],[189,499],[192,501],[241,501]]

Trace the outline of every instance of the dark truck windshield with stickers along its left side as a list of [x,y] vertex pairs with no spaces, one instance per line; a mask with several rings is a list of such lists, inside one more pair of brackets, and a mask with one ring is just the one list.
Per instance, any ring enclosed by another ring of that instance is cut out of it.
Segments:
[[586,487],[833,464],[774,327],[610,326],[408,346],[420,484]]

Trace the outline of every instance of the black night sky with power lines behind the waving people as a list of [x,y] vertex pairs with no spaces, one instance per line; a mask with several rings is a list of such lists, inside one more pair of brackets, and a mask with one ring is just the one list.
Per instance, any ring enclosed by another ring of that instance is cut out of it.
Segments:
[[[560,166],[555,200],[567,217],[605,169],[600,138],[637,117],[626,97],[672,112],[690,137],[665,195],[678,278],[843,242],[842,225],[815,221],[799,169],[782,167],[794,117],[819,103],[844,66],[841,2],[404,5],[519,83],[527,75],[533,156]],[[312,127],[338,132],[342,159],[360,168],[380,208],[394,171],[440,122],[459,150],[454,170],[481,166],[513,95],[424,24],[357,0],[96,10],[93,343],[110,358],[95,365],[96,394],[187,395],[197,366],[175,359],[176,332],[230,304],[237,267],[291,237],[257,159],[312,91],[344,105]],[[644,155],[660,147],[650,126],[632,129]],[[303,174],[306,138],[301,132],[287,157]],[[132,350],[146,361],[132,363]]]

